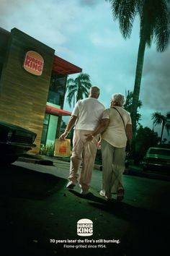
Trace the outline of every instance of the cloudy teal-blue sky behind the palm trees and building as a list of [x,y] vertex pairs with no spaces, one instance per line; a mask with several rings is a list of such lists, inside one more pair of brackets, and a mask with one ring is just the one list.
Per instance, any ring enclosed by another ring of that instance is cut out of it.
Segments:
[[[135,19],[130,39],[123,39],[104,0],[0,0],[0,26],[13,27],[55,49],[55,55],[75,64],[101,89],[99,101],[109,107],[113,93],[133,90],[139,43]],[[143,127],[152,129],[151,114],[170,111],[170,46],[158,53],[146,48],[140,88]],[[75,78],[78,74],[70,75]],[[65,101],[64,108],[72,111]],[[160,129],[156,128],[158,135]],[[164,137],[167,137],[164,132]],[[169,139],[169,137],[167,137]]]

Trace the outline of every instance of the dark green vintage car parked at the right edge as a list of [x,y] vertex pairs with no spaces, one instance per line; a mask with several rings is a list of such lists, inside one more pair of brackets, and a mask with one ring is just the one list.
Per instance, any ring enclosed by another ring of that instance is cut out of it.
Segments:
[[170,149],[149,148],[143,158],[143,171],[170,171]]

